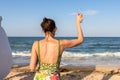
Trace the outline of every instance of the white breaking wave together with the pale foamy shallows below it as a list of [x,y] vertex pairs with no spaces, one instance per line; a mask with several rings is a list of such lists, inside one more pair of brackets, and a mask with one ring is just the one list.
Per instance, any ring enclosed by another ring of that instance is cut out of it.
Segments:
[[[29,64],[30,51],[13,52],[14,64]],[[120,64],[120,52],[104,53],[76,53],[64,51],[61,65],[118,65]]]

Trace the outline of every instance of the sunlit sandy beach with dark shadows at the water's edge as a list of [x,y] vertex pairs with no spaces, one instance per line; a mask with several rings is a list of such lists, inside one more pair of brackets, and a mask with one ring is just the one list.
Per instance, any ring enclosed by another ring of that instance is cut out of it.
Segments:
[[[120,80],[120,66],[62,66],[62,80]],[[29,66],[14,65],[4,80],[33,80]]]

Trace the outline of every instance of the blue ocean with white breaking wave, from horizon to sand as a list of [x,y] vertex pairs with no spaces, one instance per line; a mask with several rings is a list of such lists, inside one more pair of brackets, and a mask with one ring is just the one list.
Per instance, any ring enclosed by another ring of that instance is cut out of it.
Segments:
[[[56,37],[75,39],[76,37]],[[30,62],[32,44],[43,37],[9,37],[13,62],[26,65]],[[84,42],[63,52],[61,66],[120,65],[120,37],[85,37]]]

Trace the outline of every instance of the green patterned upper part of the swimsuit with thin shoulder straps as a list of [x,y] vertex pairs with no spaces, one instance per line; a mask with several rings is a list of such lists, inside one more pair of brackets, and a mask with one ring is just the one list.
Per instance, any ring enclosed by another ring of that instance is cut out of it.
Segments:
[[39,71],[41,70],[49,70],[50,72],[56,72],[59,71],[59,65],[60,65],[60,60],[61,60],[61,55],[60,55],[60,40],[58,40],[58,58],[57,62],[54,64],[49,64],[49,63],[43,63],[40,61],[40,44],[38,41],[38,60],[39,60]]

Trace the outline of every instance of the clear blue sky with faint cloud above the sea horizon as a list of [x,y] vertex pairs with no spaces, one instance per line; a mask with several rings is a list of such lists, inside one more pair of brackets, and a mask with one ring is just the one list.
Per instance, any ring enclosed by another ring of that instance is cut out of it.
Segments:
[[57,25],[56,36],[77,36],[76,14],[82,12],[86,37],[120,37],[120,0],[0,0],[2,26],[8,36],[43,36],[44,17]]

